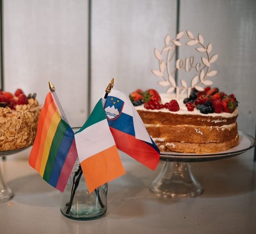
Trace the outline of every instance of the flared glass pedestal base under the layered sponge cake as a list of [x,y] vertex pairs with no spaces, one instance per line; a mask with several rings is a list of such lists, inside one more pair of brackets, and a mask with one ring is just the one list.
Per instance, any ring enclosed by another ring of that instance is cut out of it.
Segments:
[[194,197],[203,192],[203,187],[191,173],[190,163],[164,162],[162,171],[149,185],[159,197]]

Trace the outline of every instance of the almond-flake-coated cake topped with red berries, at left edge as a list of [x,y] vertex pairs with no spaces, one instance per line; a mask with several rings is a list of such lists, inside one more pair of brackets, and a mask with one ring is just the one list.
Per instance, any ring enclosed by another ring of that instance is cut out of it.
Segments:
[[14,95],[0,90],[0,151],[33,144],[41,109],[35,97],[26,96],[21,89]]

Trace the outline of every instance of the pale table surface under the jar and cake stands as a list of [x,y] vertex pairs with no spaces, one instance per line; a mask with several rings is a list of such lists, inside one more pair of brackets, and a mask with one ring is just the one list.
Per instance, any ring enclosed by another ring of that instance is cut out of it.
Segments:
[[[0,159],[14,198],[0,204],[0,233],[256,233],[255,165],[251,153],[192,163],[204,186],[194,198],[158,198],[148,185],[160,172],[121,153],[126,174],[109,183],[107,213],[76,221],[60,213],[59,192],[28,165],[30,149]],[[251,150],[252,151],[252,150]]]

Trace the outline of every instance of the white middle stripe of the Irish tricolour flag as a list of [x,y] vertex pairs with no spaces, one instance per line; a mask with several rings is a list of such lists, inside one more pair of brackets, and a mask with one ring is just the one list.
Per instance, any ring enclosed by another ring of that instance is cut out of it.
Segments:
[[[104,134],[99,134],[100,132]],[[115,145],[107,119],[90,125],[88,128],[75,134],[75,142],[80,162]]]

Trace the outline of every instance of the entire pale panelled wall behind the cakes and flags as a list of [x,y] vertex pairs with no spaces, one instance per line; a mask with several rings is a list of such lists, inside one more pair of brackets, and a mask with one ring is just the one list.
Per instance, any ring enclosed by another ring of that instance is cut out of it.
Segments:
[[[2,0],[5,89],[36,92],[43,103],[51,80],[70,125],[80,126],[112,77],[126,94],[137,88],[164,92],[151,73],[158,66],[153,51],[163,47],[166,34],[175,36],[178,23],[213,44],[218,74],[211,80],[236,94],[238,128],[255,135],[255,1],[180,0],[178,22],[177,2],[92,0],[89,9],[89,0]],[[179,56],[189,49],[181,47]],[[180,71],[178,80],[183,77]]]

